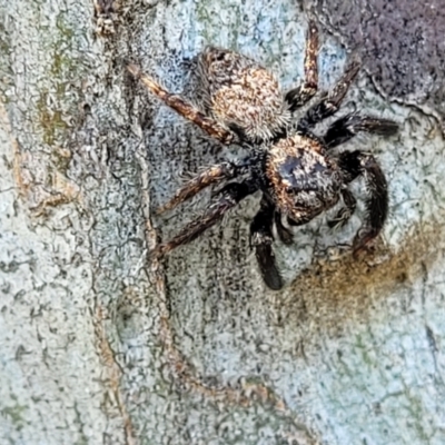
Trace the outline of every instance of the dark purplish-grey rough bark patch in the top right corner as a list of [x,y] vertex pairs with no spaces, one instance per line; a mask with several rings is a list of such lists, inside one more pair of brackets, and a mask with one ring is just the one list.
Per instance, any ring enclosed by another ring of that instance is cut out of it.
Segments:
[[324,24],[362,55],[387,98],[435,116],[445,131],[443,0],[314,0]]

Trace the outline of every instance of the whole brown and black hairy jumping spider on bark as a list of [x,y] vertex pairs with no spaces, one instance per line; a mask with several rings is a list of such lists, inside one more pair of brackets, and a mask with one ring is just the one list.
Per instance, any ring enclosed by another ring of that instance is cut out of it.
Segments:
[[304,82],[284,95],[274,75],[255,60],[229,50],[207,48],[198,63],[205,92],[205,113],[180,96],[166,91],[138,67],[128,67],[151,92],[211,137],[225,145],[238,144],[249,150],[246,159],[206,169],[158,210],[172,209],[206,187],[243,177],[237,182],[225,185],[205,214],[168,243],[159,245],[156,255],[162,256],[190,243],[241,199],[260,190],[260,208],[250,225],[250,245],[255,247],[267,286],[280,289],[284,283],[271,248],[274,224],[281,241],[290,244],[293,235],[281,217],[290,226],[300,226],[335,206],[342,197],[344,206],[329,226],[343,226],[356,207],[348,185],[359,176],[365,179],[368,197],[365,220],[353,243],[354,254],[379,234],[388,212],[385,175],[372,155],[359,150],[336,152],[335,148],[358,131],[393,135],[397,125],[349,113],[334,121],[323,137],[313,134],[316,123],[339,109],[359,70],[355,62],[327,95],[298,122],[293,122],[293,112],[317,91],[317,55],[318,30],[309,21]]

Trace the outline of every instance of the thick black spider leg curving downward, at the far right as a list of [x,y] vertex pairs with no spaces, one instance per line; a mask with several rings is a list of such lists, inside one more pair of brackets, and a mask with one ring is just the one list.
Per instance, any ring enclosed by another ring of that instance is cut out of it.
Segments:
[[364,176],[368,191],[365,221],[353,243],[354,255],[357,255],[380,233],[385,224],[388,215],[388,185],[380,166],[369,154],[345,151],[339,157],[339,166],[346,182]]

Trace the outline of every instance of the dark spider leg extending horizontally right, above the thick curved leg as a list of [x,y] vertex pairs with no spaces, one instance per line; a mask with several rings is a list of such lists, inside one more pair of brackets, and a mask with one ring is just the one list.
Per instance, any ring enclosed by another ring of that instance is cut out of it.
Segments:
[[346,115],[328,128],[324,137],[324,142],[327,148],[333,148],[352,139],[358,131],[390,136],[395,135],[397,130],[397,123],[392,120]]

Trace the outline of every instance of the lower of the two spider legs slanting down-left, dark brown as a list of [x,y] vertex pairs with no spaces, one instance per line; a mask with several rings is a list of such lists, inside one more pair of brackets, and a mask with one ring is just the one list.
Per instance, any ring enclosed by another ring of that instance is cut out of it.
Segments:
[[182,244],[187,244],[196,239],[209,227],[214,226],[222,216],[233,207],[235,207],[241,199],[248,195],[254,194],[258,189],[253,180],[245,180],[244,182],[228,184],[219,192],[219,199],[211,204],[207,211],[199,218],[189,222],[182,230],[168,243],[160,244],[154,255],[161,257],[168,254]]

